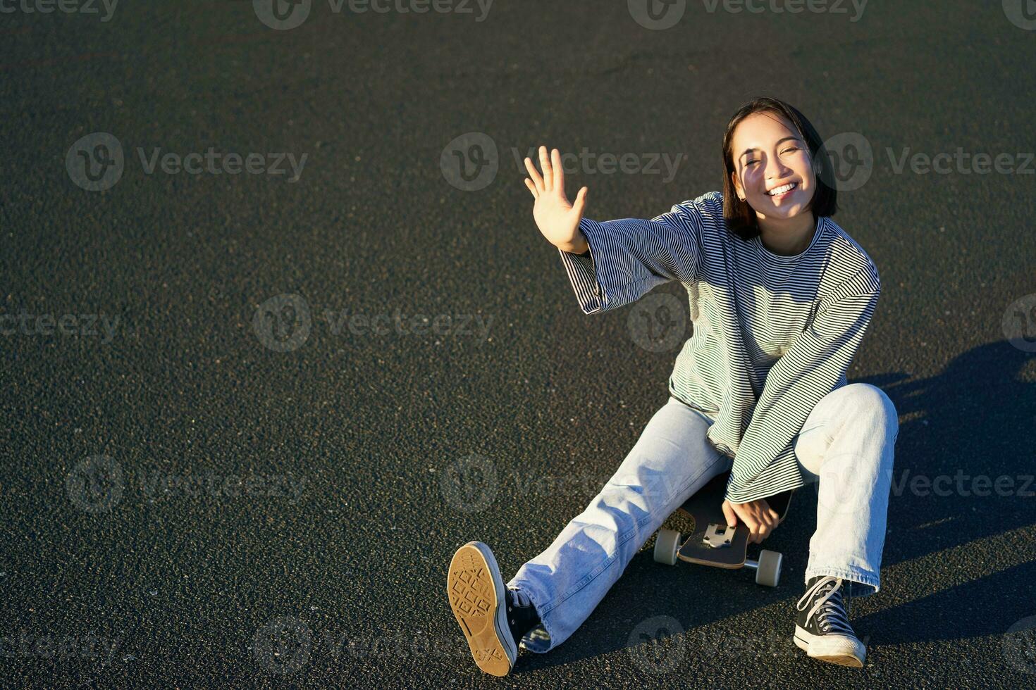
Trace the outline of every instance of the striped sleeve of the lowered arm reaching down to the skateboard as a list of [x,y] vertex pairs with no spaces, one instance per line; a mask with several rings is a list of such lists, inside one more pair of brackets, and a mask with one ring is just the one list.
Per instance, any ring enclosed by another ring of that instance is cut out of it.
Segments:
[[881,293],[872,266],[844,281],[767,373],[733,458],[726,499],[747,503],[803,485],[793,441],[848,369]]

